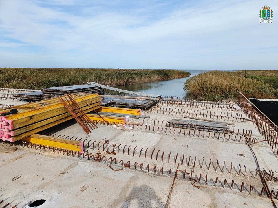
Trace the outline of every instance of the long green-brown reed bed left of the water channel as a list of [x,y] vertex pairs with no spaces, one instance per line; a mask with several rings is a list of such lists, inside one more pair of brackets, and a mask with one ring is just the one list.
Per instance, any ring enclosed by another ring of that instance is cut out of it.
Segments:
[[126,85],[189,77],[179,70],[81,69],[81,68],[0,68],[0,87],[40,90],[44,87],[97,82]]

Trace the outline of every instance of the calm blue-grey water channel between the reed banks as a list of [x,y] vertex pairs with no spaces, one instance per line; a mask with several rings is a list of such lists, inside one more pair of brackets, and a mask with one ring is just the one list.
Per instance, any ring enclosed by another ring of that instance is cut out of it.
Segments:
[[[190,72],[192,76],[195,76],[199,73],[206,72],[209,70],[184,70]],[[123,90],[130,90],[135,92],[145,92],[149,94],[164,95],[164,96],[178,96],[184,97],[187,92],[183,90],[184,83],[189,77],[180,78],[180,79],[171,79],[167,81],[154,81],[146,83],[138,83],[132,85],[120,85],[116,88]],[[106,92],[109,92],[108,90]]]

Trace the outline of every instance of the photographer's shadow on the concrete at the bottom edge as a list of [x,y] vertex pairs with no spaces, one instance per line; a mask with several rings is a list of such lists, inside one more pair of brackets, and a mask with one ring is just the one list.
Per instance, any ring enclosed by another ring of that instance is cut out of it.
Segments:
[[161,207],[161,203],[158,201],[158,197],[156,196],[156,192],[152,187],[148,185],[141,185],[133,187],[129,196],[126,198],[126,201],[122,204],[121,208],[133,207],[134,204],[131,201],[137,200],[138,208],[155,208]]

